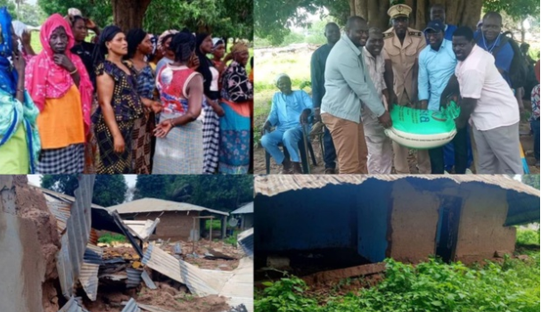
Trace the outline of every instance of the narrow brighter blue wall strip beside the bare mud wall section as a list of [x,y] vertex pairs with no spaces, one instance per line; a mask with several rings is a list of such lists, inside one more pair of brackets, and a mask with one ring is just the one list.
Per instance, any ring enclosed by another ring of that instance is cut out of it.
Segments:
[[385,259],[389,246],[389,209],[392,199],[389,197],[391,185],[381,181],[367,181],[362,192],[357,192],[358,202],[358,253],[372,262]]

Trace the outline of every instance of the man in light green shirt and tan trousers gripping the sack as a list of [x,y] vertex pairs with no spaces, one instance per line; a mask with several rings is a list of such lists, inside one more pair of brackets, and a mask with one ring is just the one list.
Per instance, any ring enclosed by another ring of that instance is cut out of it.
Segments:
[[331,131],[340,174],[367,174],[367,148],[361,122],[361,102],[373,112],[383,127],[391,127],[365,64],[362,47],[368,39],[368,24],[352,16],[346,34],[332,47],[325,64],[325,95],[321,118]]

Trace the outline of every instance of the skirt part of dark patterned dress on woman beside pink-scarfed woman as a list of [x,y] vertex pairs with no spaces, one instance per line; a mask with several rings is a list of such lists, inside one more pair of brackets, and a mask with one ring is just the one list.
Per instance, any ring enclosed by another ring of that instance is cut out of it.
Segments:
[[96,160],[96,171],[99,175],[130,174],[132,169],[132,132],[134,120],[117,121],[120,134],[124,138],[124,152],[114,151],[114,142],[109,127],[101,118],[94,127],[94,135],[100,157]]

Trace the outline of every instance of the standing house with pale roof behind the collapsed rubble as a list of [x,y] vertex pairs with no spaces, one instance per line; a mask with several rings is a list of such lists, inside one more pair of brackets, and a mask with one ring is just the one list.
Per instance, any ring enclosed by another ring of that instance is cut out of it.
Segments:
[[[189,240],[194,237],[197,240],[201,234],[205,234],[205,221],[210,217],[221,221],[221,236],[225,237],[226,220],[229,216],[224,211],[187,202],[164,201],[155,198],[124,202],[107,209],[118,211],[125,221],[160,218],[160,224],[156,226],[155,234],[151,236],[151,239]],[[218,234],[213,233],[212,236],[217,237]]]

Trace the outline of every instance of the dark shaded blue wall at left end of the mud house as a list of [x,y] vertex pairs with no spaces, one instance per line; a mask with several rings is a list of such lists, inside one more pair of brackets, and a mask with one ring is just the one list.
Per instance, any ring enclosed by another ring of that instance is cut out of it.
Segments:
[[357,248],[358,185],[327,185],[255,199],[258,250]]

